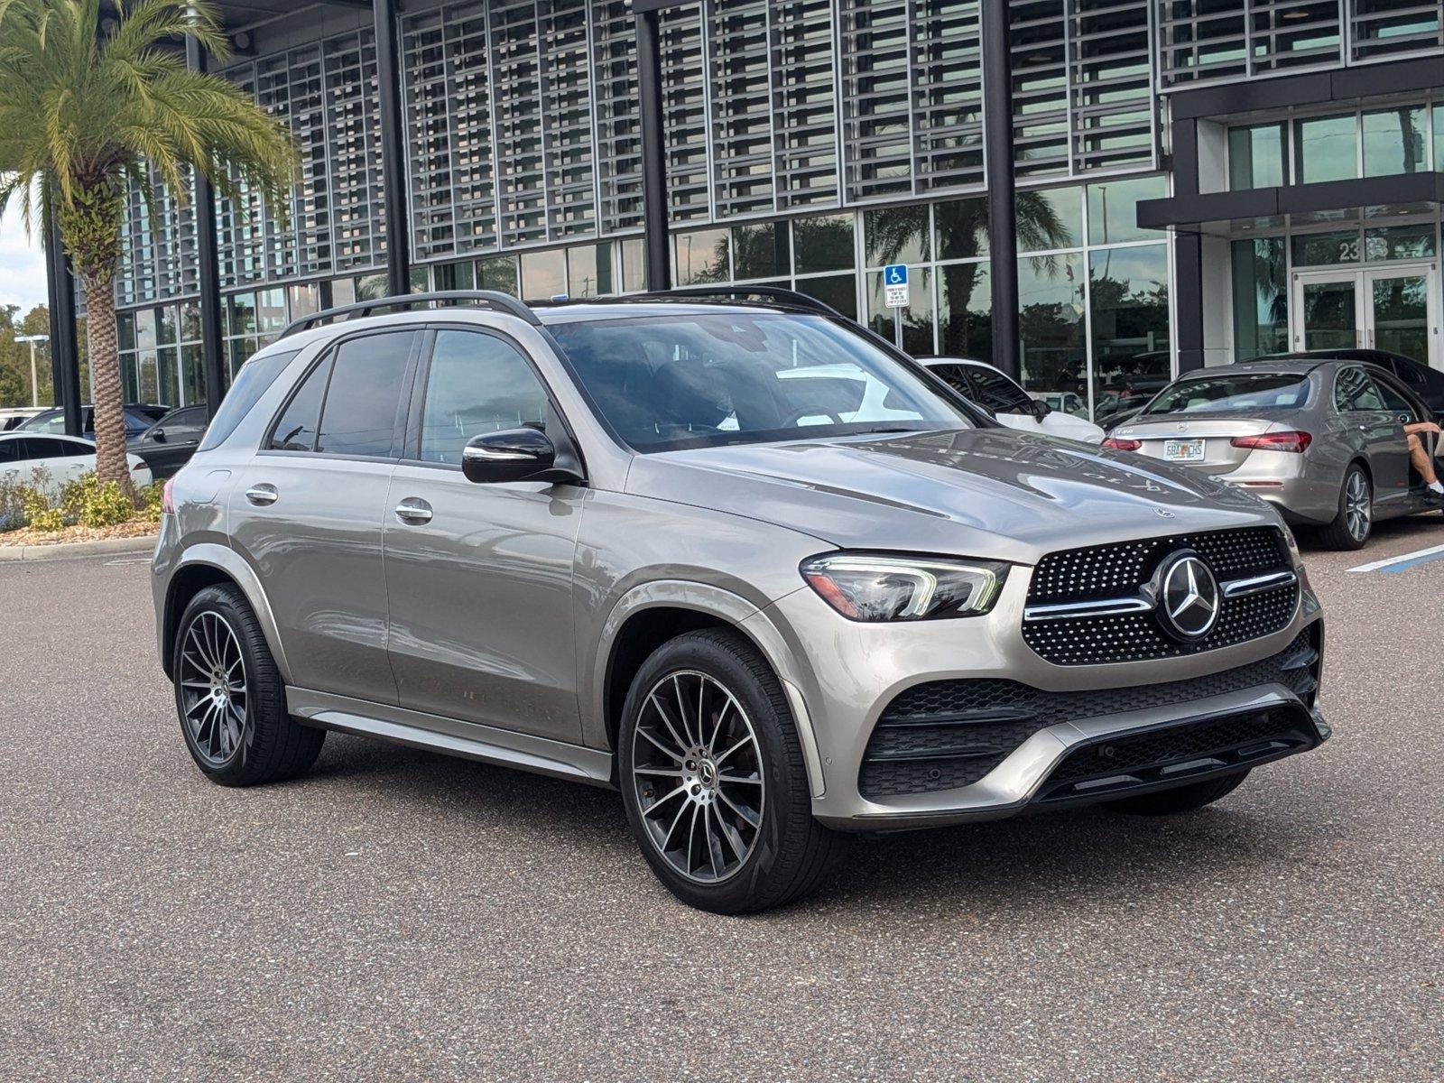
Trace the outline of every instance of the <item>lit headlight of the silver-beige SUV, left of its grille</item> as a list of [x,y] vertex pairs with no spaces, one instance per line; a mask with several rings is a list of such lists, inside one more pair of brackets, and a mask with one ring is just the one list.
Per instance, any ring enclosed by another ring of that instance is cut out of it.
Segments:
[[803,560],[801,573],[827,605],[851,621],[930,621],[992,609],[1008,565],[827,553]]

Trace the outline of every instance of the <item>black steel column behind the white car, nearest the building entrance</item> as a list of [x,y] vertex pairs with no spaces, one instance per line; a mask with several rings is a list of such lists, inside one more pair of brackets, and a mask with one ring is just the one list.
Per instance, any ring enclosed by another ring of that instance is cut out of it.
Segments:
[[1012,49],[1008,0],[983,0],[983,147],[993,364],[1019,377],[1018,206],[1012,162]]

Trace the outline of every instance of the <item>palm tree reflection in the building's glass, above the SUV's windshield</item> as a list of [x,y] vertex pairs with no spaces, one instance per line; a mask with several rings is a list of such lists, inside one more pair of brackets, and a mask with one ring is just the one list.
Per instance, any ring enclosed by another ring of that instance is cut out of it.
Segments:
[[[966,199],[947,208],[947,258],[966,260],[982,254],[988,238],[988,201]],[[1018,247],[1022,251],[1044,251],[1061,248],[1071,241],[1067,225],[1041,192],[1018,192]],[[869,230],[868,247],[877,253],[874,263],[898,261],[901,253],[927,250],[927,208],[907,208],[907,212],[878,215],[878,224]],[[1030,258],[1035,273],[1056,277],[1058,260],[1056,256],[1034,256]],[[943,328],[943,352],[985,354],[991,348],[992,316],[988,312],[970,312],[969,302],[986,263],[966,263],[949,267],[943,273],[941,303],[947,312]],[[928,322],[928,313],[914,313],[904,309],[904,323],[918,326]],[[885,331],[884,331],[885,334]]]

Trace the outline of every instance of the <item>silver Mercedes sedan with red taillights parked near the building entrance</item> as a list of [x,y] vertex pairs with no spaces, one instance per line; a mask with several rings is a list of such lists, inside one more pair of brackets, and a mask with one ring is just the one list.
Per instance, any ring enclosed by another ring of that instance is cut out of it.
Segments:
[[[1440,507],[1405,432],[1427,420],[1392,373],[1302,355],[1190,373],[1105,446],[1217,475],[1318,527],[1326,544],[1359,549],[1375,521]],[[1434,439],[1422,440],[1430,456]]]

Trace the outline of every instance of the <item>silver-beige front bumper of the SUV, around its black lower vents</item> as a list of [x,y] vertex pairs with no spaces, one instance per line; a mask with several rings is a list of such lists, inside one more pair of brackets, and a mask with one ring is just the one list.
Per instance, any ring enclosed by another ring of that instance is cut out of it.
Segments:
[[[1011,576],[993,612],[978,619],[901,625],[840,622],[812,591],[788,595],[773,606],[774,624],[796,637],[793,657],[806,657],[810,663],[810,670],[796,673],[793,683],[804,708],[804,736],[816,748],[820,764],[823,784],[814,786],[813,797],[813,814],[820,822],[840,830],[907,830],[1002,819],[1034,809],[1183,786],[1308,751],[1327,739],[1328,728],[1315,703],[1323,654],[1321,614],[1307,586],[1300,591],[1292,619],[1272,635],[1187,657],[1063,667],[1044,661],[1022,641],[1027,580],[1025,573]],[[1248,687],[1225,682],[1226,690],[1219,695],[1151,705],[1149,699],[1158,697],[1142,695],[1134,697],[1142,703],[1138,709],[1083,712],[1044,725],[967,784],[871,796],[862,786],[868,745],[879,719],[901,693],[917,686],[1001,680],[1054,699],[1079,693],[1108,699],[1110,690],[1148,692],[1223,671],[1246,671],[1255,663],[1281,656],[1311,628],[1304,638],[1314,644],[1318,658],[1313,682],[1302,687],[1281,679],[1259,680]],[[825,653],[819,650],[823,644]],[[1165,761],[1131,764],[1131,773],[1113,773],[1128,778],[1108,781],[1108,773],[1102,777],[1092,773],[1069,780],[1067,791],[1057,784],[1064,765],[1077,774],[1079,761],[1073,757],[1086,755],[1087,749],[1149,734],[1183,735],[1190,728],[1219,721],[1261,718],[1276,721],[1272,728],[1291,736],[1282,744],[1269,744],[1264,731],[1272,722],[1261,722],[1256,734],[1251,731],[1256,739],[1236,741],[1227,748],[1184,748]]]

